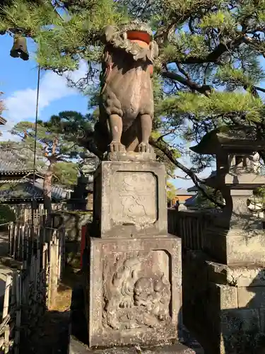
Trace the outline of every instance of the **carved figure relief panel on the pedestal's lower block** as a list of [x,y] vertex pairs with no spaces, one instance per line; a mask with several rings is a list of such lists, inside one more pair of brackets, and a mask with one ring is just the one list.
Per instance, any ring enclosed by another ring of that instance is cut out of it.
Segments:
[[110,258],[105,258],[103,270],[103,326],[144,330],[168,324],[171,286],[167,253],[130,252]]

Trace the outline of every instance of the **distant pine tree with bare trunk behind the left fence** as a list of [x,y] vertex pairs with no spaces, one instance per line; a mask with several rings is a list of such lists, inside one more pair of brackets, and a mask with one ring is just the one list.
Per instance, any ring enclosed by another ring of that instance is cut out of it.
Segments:
[[[52,118],[51,118],[52,120]],[[2,147],[16,149],[20,152],[29,169],[33,169],[34,154],[35,168],[44,174],[43,193],[45,208],[51,210],[52,181],[57,176],[64,185],[76,181],[79,153],[83,150],[76,142],[69,139],[66,132],[60,131],[48,122],[37,122],[37,137],[35,146],[35,124],[32,122],[19,122],[11,133],[20,137],[20,142],[4,142]],[[36,149],[35,149],[36,147]],[[70,181],[67,180],[70,178]]]

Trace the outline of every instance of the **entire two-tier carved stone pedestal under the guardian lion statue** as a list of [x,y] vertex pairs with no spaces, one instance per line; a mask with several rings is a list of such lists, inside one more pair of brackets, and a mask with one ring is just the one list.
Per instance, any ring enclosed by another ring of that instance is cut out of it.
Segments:
[[96,171],[87,247],[89,348],[181,338],[181,240],[167,234],[166,202],[163,164],[103,161]]

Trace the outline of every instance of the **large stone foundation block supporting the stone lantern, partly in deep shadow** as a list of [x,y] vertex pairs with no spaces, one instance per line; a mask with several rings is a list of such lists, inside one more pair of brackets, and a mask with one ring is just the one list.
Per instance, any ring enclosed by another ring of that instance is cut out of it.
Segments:
[[262,353],[264,270],[228,267],[194,251],[187,252],[182,270],[184,324],[211,341],[213,353]]

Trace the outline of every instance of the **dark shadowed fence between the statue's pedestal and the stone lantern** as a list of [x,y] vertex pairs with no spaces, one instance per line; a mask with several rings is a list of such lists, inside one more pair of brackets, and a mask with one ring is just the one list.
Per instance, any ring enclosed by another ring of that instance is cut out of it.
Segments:
[[168,232],[182,239],[182,246],[187,249],[204,250],[205,234],[211,224],[213,214],[204,211],[167,210]]

